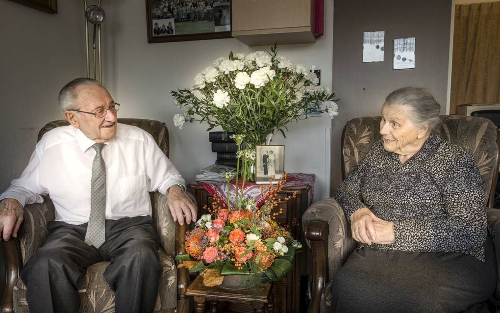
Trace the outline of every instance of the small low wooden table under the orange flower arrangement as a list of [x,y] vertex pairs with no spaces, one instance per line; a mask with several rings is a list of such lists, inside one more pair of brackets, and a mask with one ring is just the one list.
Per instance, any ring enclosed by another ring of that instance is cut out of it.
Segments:
[[255,313],[274,313],[272,283],[245,290],[226,290],[217,286],[205,286],[203,277],[198,275],[187,287],[186,295],[194,297],[194,310],[196,313],[205,312],[206,301],[210,302],[210,313],[218,312],[218,303],[222,301],[249,302]]

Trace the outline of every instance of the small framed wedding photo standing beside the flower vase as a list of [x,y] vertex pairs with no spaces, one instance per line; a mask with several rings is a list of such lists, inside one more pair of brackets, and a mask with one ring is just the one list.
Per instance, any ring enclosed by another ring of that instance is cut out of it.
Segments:
[[255,146],[255,150],[257,158],[255,183],[268,184],[271,179],[273,184],[277,183],[284,173],[284,146],[260,145]]

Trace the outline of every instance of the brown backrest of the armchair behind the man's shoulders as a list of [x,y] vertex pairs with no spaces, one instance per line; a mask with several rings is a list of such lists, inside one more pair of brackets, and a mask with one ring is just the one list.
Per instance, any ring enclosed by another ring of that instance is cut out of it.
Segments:
[[[118,119],[118,123],[137,126],[138,128],[141,128],[151,134],[151,136],[153,136],[154,138],[154,141],[156,141],[156,144],[158,144],[158,147],[161,149],[161,151],[163,151],[166,157],[168,157],[168,129],[166,128],[164,123],[142,119]],[[43,134],[45,134],[49,130],[66,125],[69,125],[69,122],[66,120],[57,120],[47,123],[38,132],[38,141],[40,141],[41,136],[43,136]]]

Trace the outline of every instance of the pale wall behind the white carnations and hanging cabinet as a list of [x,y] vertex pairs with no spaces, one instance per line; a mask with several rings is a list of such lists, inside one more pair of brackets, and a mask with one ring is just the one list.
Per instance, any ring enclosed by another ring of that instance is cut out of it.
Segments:
[[[137,117],[166,122],[170,133],[170,159],[186,182],[203,167],[214,163],[207,125],[174,127],[172,116],[181,113],[173,105],[170,90],[192,86],[196,73],[218,57],[234,53],[270,50],[247,47],[236,39],[148,44],[144,1],[103,1],[106,21],[102,26],[103,83],[116,102],[119,117]],[[324,36],[315,44],[283,45],[278,53],[296,63],[321,69],[321,85],[331,87],[333,2],[325,0]],[[340,111],[342,108],[340,107]],[[315,199],[329,194],[328,117],[309,118],[289,124],[286,139],[274,136],[274,144],[285,145],[287,172],[316,175]]]

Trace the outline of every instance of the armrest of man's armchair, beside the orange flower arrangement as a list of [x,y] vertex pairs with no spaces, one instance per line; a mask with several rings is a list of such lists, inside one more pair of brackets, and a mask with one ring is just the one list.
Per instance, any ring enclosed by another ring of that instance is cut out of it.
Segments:
[[[194,196],[187,193],[189,198],[196,206]],[[168,255],[175,257],[179,253],[185,253],[184,241],[188,225],[180,225],[173,222],[170,209],[168,208],[168,199],[165,195],[155,192],[153,197],[153,223],[156,226],[156,232],[161,247]],[[178,262],[175,262],[176,264]],[[178,265],[178,264],[177,264]],[[187,312],[189,310],[189,299],[185,291],[189,286],[189,273],[185,267],[177,268],[177,312]]]

